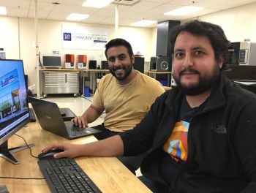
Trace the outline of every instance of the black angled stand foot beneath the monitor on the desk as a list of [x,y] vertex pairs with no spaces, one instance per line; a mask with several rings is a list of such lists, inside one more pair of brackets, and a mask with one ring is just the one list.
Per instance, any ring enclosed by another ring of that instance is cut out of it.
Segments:
[[0,145],[0,157],[6,159],[9,162],[12,162],[12,164],[19,164],[17,159],[15,159],[15,156],[13,156],[13,153],[22,151],[26,148],[33,147],[34,143],[23,145],[15,148],[8,148],[8,141],[4,142]]

